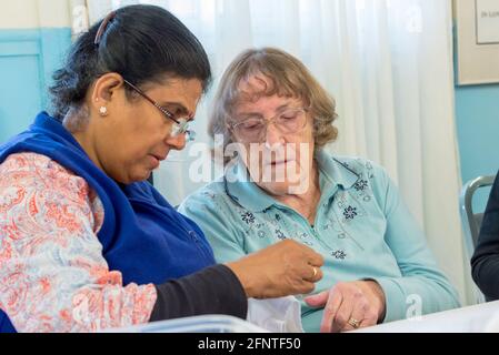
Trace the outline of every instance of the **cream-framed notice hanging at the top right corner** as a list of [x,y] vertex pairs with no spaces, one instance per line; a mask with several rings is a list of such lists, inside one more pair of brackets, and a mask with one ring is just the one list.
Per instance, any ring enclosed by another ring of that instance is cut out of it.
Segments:
[[455,0],[459,85],[499,83],[499,0]]

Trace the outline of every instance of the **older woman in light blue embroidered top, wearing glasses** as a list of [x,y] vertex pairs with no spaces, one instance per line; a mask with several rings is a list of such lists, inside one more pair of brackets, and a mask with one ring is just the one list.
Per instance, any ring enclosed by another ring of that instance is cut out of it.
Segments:
[[210,122],[236,162],[180,211],[201,226],[219,262],[288,239],[320,253],[319,292],[302,303],[306,331],[457,307],[386,171],[323,149],[337,138],[336,118],[335,101],[299,60],[271,48],[243,52],[221,80]]

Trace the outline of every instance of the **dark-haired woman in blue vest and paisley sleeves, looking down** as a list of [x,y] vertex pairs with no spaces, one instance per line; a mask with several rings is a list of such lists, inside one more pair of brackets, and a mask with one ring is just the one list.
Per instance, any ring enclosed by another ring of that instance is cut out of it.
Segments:
[[[88,332],[308,293],[322,257],[283,242],[214,265],[201,230],[147,182],[211,79],[171,13],[132,6],[71,48],[40,113],[0,146],[0,332]],[[266,267],[261,267],[266,263]]]

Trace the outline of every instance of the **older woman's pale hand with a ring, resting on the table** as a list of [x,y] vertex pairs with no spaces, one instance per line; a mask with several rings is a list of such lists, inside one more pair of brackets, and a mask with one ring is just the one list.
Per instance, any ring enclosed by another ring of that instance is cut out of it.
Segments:
[[376,281],[338,283],[305,301],[312,307],[325,307],[321,333],[355,331],[385,318],[385,293]]

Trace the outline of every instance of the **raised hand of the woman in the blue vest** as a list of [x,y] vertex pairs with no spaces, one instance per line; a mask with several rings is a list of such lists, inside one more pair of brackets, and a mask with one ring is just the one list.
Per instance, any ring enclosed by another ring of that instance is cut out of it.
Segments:
[[250,254],[229,266],[248,297],[277,298],[307,294],[322,278],[323,258],[310,247],[287,240]]

